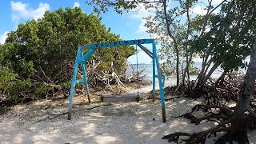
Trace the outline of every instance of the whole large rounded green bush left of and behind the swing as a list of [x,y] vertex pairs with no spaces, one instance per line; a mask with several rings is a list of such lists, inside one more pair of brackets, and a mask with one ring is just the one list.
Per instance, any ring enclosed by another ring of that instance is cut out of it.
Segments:
[[[43,18],[19,24],[17,30],[8,34],[6,43],[0,45],[0,90],[17,95],[33,88],[34,94],[43,95],[50,90],[49,83],[69,87],[80,44],[122,40],[110,33],[101,20],[75,7],[46,11]],[[126,58],[134,53],[133,46],[96,50],[86,66],[100,62],[97,71],[109,73],[113,63],[115,72],[122,74],[126,70]]]

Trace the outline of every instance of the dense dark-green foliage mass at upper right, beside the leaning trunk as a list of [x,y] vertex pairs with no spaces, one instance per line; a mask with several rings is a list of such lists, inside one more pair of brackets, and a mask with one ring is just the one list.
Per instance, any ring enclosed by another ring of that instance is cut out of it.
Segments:
[[[191,42],[191,46],[202,57],[210,54],[226,72],[246,66],[242,60],[250,54],[256,37],[255,8],[254,0],[226,2],[219,14],[210,16],[210,31]],[[202,26],[203,18],[195,18],[195,30],[200,23]]]

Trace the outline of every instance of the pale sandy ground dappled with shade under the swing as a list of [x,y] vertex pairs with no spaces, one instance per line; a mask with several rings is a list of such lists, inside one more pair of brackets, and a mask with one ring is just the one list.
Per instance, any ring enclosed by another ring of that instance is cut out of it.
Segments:
[[[73,110],[103,104],[79,104],[77,98],[74,98]],[[165,134],[197,132],[214,126],[208,122],[194,125],[186,118],[174,118],[190,111],[199,101],[179,98],[166,102],[166,123],[162,122],[159,102],[113,103],[112,106],[75,112],[71,120],[67,120],[67,115],[49,120],[53,117],[51,114],[67,111],[68,100],[14,106],[0,116],[0,143],[168,143],[161,139]],[[43,118],[47,120],[36,122]],[[255,131],[249,133],[250,143],[256,142],[255,134]]]

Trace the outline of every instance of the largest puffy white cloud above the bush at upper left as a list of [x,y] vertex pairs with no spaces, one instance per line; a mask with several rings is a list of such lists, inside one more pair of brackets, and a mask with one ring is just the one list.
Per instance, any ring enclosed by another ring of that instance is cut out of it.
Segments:
[[43,14],[46,10],[50,10],[50,5],[48,3],[39,3],[37,9],[33,9],[27,3],[23,2],[10,2],[11,10],[12,10],[12,19],[14,21],[19,21],[21,19],[29,19],[29,18],[42,18]]

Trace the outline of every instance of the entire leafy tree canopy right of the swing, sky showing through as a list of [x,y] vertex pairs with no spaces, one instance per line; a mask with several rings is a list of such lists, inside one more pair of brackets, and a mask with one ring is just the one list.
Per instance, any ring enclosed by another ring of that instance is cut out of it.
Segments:
[[[156,40],[162,45],[160,58],[176,60],[173,65],[178,71],[175,62],[186,61],[188,70],[194,70],[190,67],[192,58],[200,56],[203,62],[199,85],[203,85],[218,66],[226,73],[246,67],[243,59],[250,54],[256,37],[255,0],[219,4],[198,0],[92,0],[87,3],[94,6],[96,12],[114,8],[122,14],[126,10],[139,9],[141,5],[151,10],[146,27],[148,33],[158,35]],[[191,12],[195,6],[202,6],[206,14]]]

